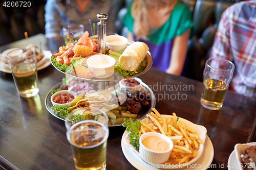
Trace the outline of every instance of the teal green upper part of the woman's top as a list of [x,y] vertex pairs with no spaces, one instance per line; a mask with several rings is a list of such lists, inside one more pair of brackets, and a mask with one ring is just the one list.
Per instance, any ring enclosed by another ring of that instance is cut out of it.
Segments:
[[[133,33],[134,20],[131,14],[131,6],[127,10],[127,14],[124,18],[124,26]],[[190,11],[182,2],[178,1],[169,19],[162,27],[154,30],[153,34],[148,35],[147,41],[160,44],[183,34],[188,28],[191,28],[190,35],[192,35],[194,33],[194,29],[192,30],[193,27],[194,23],[191,21]]]

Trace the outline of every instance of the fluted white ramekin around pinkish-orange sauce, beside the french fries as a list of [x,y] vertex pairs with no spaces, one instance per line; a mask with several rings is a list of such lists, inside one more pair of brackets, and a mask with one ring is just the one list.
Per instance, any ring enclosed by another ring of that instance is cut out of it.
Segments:
[[[157,137],[160,137],[161,139],[166,140],[169,143],[169,149],[167,151],[157,152],[157,151],[153,151],[146,148],[142,144],[142,141],[149,136],[157,136]],[[144,133],[143,135],[140,136],[139,142],[140,142],[140,149],[139,149],[140,157],[147,163],[157,164],[157,163],[163,163],[167,161],[170,157],[170,152],[173,150],[173,147],[174,147],[174,143],[169,137],[156,132]]]

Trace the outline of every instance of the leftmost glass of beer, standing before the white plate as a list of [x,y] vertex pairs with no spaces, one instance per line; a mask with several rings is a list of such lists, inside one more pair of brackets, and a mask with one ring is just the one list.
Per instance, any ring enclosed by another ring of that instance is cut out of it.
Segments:
[[18,94],[30,98],[39,93],[34,50],[17,48],[7,54]]

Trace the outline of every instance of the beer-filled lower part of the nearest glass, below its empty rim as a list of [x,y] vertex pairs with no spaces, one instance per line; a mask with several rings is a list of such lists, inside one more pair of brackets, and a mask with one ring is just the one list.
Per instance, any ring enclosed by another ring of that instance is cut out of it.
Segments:
[[108,126],[97,120],[82,120],[67,126],[69,123],[66,119],[67,138],[71,144],[76,169],[105,169]]

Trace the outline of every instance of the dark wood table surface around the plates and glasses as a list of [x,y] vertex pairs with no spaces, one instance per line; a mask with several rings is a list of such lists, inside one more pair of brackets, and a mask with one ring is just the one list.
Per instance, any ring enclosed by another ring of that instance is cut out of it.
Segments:
[[[57,42],[47,40],[43,34],[29,38],[33,44],[39,45],[39,41],[44,50],[54,52],[58,49]],[[18,46],[26,46],[26,40],[1,46],[0,53]],[[45,107],[47,93],[62,81],[63,76],[52,65],[39,70],[40,94],[24,99],[18,96],[12,75],[0,71],[0,167],[23,170],[75,169],[64,122],[52,116]],[[152,87],[157,99],[156,109],[161,114],[175,112],[190,122],[206,127],[214,146],[214,169],[227,169],[234,145],[252,141],[255,131],[255,99],[228,91],[223,107],[219,111],[211,111],[200,105],[202,82],[168,75],[154,68],[139,78]],[[166,85],[169,87],[167,90],[163,89]],[[183,88],[185,86],[187,90]],[[172,99],[167,99],[168,96]],[[135,169],[121,149],[124,131],[121,126],[110,127],[107,169]],[[224,164],[224,168],[220,164]]]

